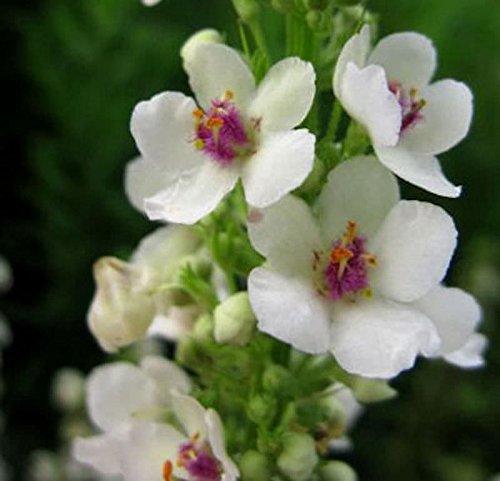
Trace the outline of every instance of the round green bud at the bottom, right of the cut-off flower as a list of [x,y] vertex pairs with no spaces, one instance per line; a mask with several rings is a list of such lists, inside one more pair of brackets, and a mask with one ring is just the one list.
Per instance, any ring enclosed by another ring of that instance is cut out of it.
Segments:
[[311,479],[318,464],[314,439],[305,433],[288,433],[283,440],[283,451],[278,458],[278,468],[292,481]]

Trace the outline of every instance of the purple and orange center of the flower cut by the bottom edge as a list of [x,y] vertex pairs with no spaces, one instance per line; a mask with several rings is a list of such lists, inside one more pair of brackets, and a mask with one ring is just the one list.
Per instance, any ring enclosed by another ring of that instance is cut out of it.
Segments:
[[[206,441],[200,441],[198,434],[181,444],[177,455],[177,466],[184,468],[189,478],[186,481],[220,481],[222,466],[212,453]],[[166,461],[164,480],[171,481],[172,463]]]

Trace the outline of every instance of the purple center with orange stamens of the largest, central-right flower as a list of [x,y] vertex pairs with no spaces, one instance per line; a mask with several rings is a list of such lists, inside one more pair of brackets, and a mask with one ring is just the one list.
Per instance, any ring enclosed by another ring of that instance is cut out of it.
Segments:
[[368,268],[376,258],[366,250],[366,239],[348,222],[345,233],[336,240],[328,254],[314,253],[313,273],[317,291],[333,301],[358,292],[370,294]]

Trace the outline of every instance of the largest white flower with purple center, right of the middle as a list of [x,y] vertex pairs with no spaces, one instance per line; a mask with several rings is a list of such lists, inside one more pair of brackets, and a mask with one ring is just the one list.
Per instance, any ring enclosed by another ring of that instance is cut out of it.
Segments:
[[267,257],[248,284],[260,330],[305,352],[331,351],[366,377],[393,377],[419,353],[438,352],[439,329],[415,302],[442,281],[456,246],[443,209],[399,201],[394,176],[359,157],[330,173],[317,220],[293,196],[260,217],[248,226]]

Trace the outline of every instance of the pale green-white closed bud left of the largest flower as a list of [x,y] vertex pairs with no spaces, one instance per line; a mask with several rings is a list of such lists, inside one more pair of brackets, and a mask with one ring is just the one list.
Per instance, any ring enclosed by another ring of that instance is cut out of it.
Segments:
[[256,319],[247,292],[238,292],[219,304],[214,311],[214,336],[218,343],[247,344],[255,330]]

